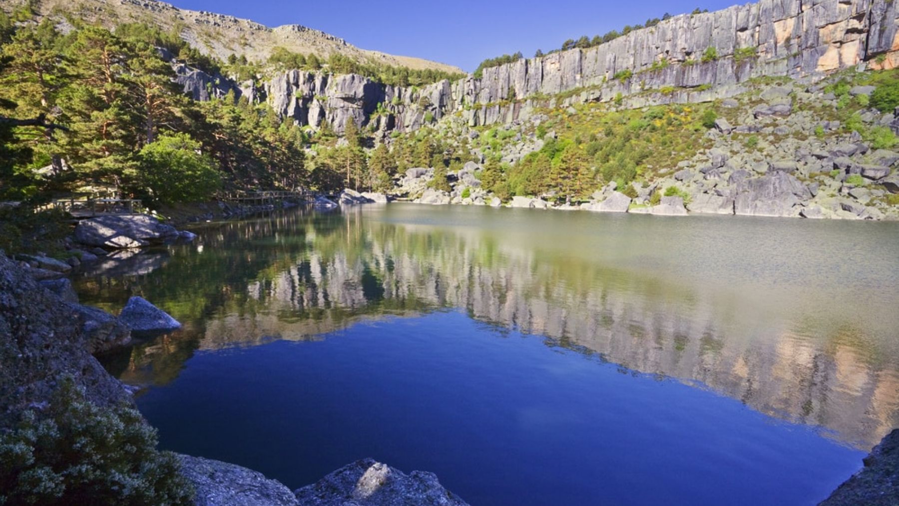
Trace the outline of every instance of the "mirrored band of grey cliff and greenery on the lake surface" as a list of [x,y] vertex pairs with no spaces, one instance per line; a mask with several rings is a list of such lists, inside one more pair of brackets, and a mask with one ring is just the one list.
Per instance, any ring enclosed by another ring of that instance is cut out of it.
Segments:
[[165,383],[196,348],[316,339],[383,315],[459,307],[855,444],[899,425],[895,344],[857,320],[805,315],[805,305],[499,242],[478,228],[298,213],[227,224],[201,240],[202,253],[174,251],[165,268],[121,281],[191,321],[120,357],[113,368],[123,379]]

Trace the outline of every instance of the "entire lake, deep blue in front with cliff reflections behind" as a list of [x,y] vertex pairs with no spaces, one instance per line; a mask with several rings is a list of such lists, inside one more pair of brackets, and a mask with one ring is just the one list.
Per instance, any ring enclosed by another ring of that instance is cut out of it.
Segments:
[[82,302],[163,448],[290,488],[361,457],[473,505],[814,504],[899,426],[899,224],[414,204],[198,226]]

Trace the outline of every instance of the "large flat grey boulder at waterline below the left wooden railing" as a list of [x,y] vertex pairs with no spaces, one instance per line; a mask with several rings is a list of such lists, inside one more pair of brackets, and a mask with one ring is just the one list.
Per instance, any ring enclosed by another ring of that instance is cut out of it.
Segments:
[[92,217],[75,227],[78,243],[112,249],[139,248],[176,238],[174,226],[147,215]]

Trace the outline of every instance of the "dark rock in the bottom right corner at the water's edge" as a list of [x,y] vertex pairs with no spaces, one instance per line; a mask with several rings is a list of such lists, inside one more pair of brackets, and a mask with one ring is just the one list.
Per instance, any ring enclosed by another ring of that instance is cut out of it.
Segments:
[[886,435],[865,457],[865,467],[821,506],[895,506],[899,504],[899,429]]

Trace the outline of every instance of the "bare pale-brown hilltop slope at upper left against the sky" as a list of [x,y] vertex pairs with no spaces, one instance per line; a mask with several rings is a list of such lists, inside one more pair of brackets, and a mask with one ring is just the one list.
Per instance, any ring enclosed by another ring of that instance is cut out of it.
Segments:
[[315,54],[319,58],[337,53],[394,67],[461,72],[458,67],[423,58],[360,49],[334,35],[299,24],[269,28],[234,16],[179,9],[156,0],[80,0],[77,3],[41,0],[36,10],[41,15],[53,15],[60,19],[64,13],[72,13],[78,19],[98,22],[110,30],[123,22],[146,22],[162,31],[178,29],[192,47],[221,60],[235,54],[251,61],[262,61],[271,55],[273,49],[281,47],[296,53]]

